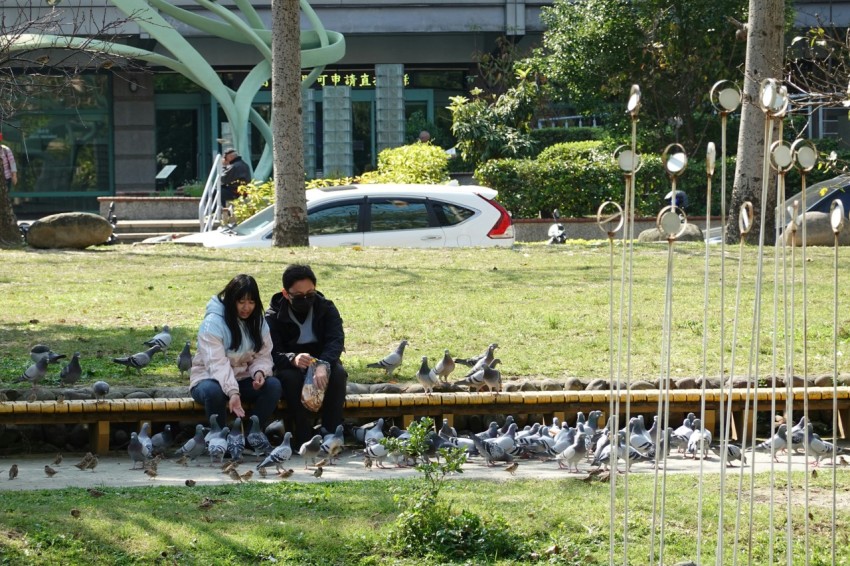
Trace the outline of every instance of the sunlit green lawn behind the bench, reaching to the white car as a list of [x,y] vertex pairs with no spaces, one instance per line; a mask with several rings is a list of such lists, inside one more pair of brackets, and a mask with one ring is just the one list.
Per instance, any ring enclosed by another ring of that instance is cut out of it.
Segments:
[[[734,320],[739,248],[727,248],[726,361]],[[720,354],[719,247],[710,274],[709,374]],[[619,253],[617,250],[616,253]],[[737,374],[746,370],[752,323],[756,250],[745,249],[738,320]],[[809,373],[830,373],[832,363],[833,252],[809,250]],[[672,367],[676,377],[702,374],[704,248],[674,248]],[[767,251],[770,257],[771,250]],[[846,254],[845,254],[846,255]],[[637,246],[634,256],[632,375],[659,375],[661,318],[667,269],[665,245]],[[468,356],[498,342],[506,378],[583,379],[608,376],[609,263],[607,242],[566,246],[517,245],[514,249],[270,249],[209,250],[173,245],[115,246],[91,251],[0,251],[0,381],[10,384],[30,363],[33,344],[82,354],[83,383],[179,385],[174,356],[191,340],[207,300],[235,274],[254,275],[265,301],[278,291],[290,262],[312,264],[319,289],[338,305],[345,323],[344,363],[352,381],[383,380],[367,363],[408,339],[400,380],[412,380],[419,358],[444,348]],[[801,277],[799,254],[796,277]],[[620,256],[615,277],[620,278]],[[847,259],[842,258],[842,264]],[[765,268],[761,371],[770,371],[773,266]],[[790,267],[788,270],[790,278]],[[617,289],[619,287],[617,286]],[[801,319],[797,285],[797,318]],[[614,300],[619,300],[615,290]],[[615,305],[615,311],[619,307]],[[840,347],[850,336],[847,309],[839,315]],[[175,345],[169,360],[156,356],[141,376],[110,358],[143,349],[154,327],[169,324]],[[795,332],[802,360],[802,331]],[[797,367],[796,373],[802,374]],[[45,383],[58,380],[58,369]]]

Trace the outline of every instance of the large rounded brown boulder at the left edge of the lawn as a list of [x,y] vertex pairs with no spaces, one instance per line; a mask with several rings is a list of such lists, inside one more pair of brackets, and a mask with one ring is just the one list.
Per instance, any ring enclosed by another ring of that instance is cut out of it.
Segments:
[[76,248],[106,243],[112,225],[102,216],[88,212],[63,212],[32,223],[27,243],[34,248]]

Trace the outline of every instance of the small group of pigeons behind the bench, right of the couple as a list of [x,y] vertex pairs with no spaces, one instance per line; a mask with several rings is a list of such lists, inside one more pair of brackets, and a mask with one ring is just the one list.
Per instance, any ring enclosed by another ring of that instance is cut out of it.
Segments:
[[[382,360],[367,364],[366,367],[381,368],[386,372],[388,378],[392,377],[393,372],[404,361],[404,349],[407,345],[407,340],[402,340],[396,349],[387,354]],[[498,344],[490,344],[484,353],[471,358],[452,358],[449,351],[444,350],[443,357],[434,364],[433,368],[428,366],[428,356],[422,356],[422,363],[416,372],[416,379],[425,389],[425,393],[430,395],[434,389],[448,383],[449,376],[455,370],[457,364],[460,363],[469,366],[470,369],[464,378],[460,381],[455,381],[454,385],[463,385],[469,391],[481,391],[485,387],[488,391],[501,391],[502,374],[496,369],[496,366],[501,363],[501,360],[494,355],[498,347]]]

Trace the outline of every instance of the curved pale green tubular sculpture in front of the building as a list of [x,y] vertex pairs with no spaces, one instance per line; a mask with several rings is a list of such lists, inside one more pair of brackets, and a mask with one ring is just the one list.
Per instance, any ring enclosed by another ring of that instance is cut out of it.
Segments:
[[[213,19],[197,12],[190,12],[169,4],[165,0],[110,0],[127,18],[144,29],[151,38],[170,56],[153,53],[138,47],[118,45],[89,38],[56,35],[21,35],[11,45],[13,51],[28,49],[81,49],[103,56],[138,59],[161,65],[187,77],[207,90],[218,102],[232,126],[233,143],[240,153],[247,154],[248,128],[253,125],[266,141],[260,161],[254,167],[254,177],[265,179],[272,171],[271,127],[255,111],[251,104],[260,88],[271,79],[271,31],[264,27],[262,19],[249,0],[236,0],[236,7],[244,17],[229,8],[219,6],[211,0],[195,0],[218,18]],[[301,12],[313,27],[301,31],[301,68],[311,69],[301,88],[309,88],[321,75],[325,65],[342,59],[345,55],[345,39],[342,34],[328,31],[322,26],[307,0],[300,0]],[[228,88],[207,63],[206,59],[183,37],[168,16],[210,35],[236,43],[254,46],[262,56],[237,90]]]

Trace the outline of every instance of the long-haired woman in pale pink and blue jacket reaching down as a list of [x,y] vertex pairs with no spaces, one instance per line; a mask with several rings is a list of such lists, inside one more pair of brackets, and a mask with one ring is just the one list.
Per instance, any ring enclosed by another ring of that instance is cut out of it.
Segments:
[[257,282],[237,275],[207,303],[198,329],[198,351],[189,371],[189,393],[224,426],[226,411],[244,418],[242,400],[268,424],[281,396],[272,373],[272,340]]

